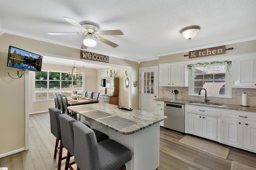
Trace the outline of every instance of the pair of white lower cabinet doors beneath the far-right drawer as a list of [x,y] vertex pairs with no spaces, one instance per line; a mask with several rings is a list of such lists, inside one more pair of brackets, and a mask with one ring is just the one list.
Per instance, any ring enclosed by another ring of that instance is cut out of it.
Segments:
[[223,143],[256,151],[256,122],[223,117]]

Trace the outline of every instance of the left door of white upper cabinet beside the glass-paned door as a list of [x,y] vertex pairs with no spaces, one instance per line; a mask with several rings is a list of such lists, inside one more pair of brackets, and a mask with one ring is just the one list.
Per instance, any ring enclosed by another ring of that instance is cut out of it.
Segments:
[[171,64],[159,65],[159,86],[171,85]]

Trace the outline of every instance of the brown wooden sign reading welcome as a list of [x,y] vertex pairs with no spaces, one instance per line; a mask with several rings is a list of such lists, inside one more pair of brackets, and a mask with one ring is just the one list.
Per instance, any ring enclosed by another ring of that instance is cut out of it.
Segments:
[[108,63],[109,57],[106,55],[91,53],[88,51],[80,51],[80,59]]

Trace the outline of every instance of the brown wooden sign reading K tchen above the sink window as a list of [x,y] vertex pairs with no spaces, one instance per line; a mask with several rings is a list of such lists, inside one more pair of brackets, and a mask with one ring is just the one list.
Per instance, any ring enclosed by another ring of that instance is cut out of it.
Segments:
[[219,47],[212,47],[208,49],[200,49],[196,51],[189,51],[188,58],[194,59],[197,57],[207,57],[211,55],[220,55],[226,54],[226,45],[222,45]]

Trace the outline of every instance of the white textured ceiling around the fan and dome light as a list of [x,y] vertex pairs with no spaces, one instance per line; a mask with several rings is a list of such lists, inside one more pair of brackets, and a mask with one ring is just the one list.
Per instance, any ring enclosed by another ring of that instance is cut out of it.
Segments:
[[[80,49],[84,35],[47,32],[81,32],[62,17],[91,21],[124,35],[102,35],[116,48],[97,41],[86,51],[141,62],[256,39],[255,9],[256,0],[0,0],[0,32]],[[201,30],[189,41],[179,31],[191,25]]]

